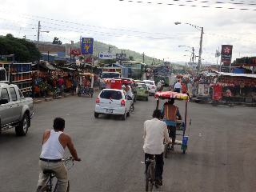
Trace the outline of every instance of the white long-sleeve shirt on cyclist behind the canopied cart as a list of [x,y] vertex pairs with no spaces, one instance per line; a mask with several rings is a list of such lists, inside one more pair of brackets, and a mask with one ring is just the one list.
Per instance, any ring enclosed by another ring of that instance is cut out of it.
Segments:
[[164,151],[163,139],[170,142],[167,125],[165,122],[153,118],[144,122],[144,146],[146,154],[162,154]]

